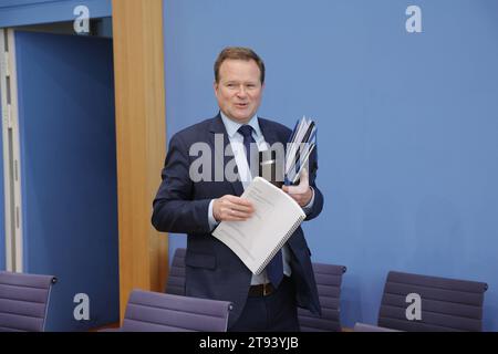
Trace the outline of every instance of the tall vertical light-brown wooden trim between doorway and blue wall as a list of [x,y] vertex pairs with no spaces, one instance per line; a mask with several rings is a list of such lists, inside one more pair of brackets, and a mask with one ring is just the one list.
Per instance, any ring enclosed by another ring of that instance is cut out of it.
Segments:
[[113,0],[120,306],[132,289],[164,291],[167,236],[151,225],[166,154],[163,0]]

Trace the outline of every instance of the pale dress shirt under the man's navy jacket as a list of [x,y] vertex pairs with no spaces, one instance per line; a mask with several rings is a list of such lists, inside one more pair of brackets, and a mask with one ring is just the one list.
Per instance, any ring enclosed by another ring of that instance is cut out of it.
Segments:
[[[221,119],[225,124],[225,128],[227,129],[228,138],[230,139],[230,145],[231,145],[231,149],[234,152],[234,156],[236,159],[240,181],[242,183],[243,189],[246,189],[252,180],[252,175],[251,175],[251,171],[250,171],[249,165],[247,163],[247,158],[246,158],[246,150],[245,150],[245,146],[243,146],[243,136],[237,132],[239,129],[239,127],[242,126],[242,124],[231,121],[222,112],[221,112]],[[255,115],[247,123],[247,125],[250,125],[252,127],[252,137],[256,142],[256,145],[258,146],[258,150],[260,150],[260,152],[267,150],[269,148],[269,145],[264,140],[264,136],[262,135],[261,129],[259,127],[258,116]],[[304,214],[308,214],[311,211],[313,201],[314,201],[314,190],[313,190],[313,196],[312,196],[310,202],[305,207],[302,208]],[[211,231],[219,223],[218,221],[216,221],[216,219],[212,215],[212,202],[214,202],[214,199],[209,202],[209,210],[208,210],[208,219],[209,219],[209,226],[211,228]],[[283,261],[283,273],[288,277],[290,277],[290,274],[292,272],[291,268],[290,268],[290,253],[289,252],[290,252],[289,247],[286,243],[282,247],[282,261]],[[269,282],[269,280],[268,280],[266,270],[263,270],[260,274],[252,274],[251,285],[263,284],[263,283],[268,283],[268,282]]]

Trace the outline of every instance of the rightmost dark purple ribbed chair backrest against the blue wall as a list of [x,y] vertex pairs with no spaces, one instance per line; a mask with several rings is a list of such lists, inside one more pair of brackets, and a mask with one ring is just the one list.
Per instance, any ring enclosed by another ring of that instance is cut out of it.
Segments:
[[[483,331],[483,282],[391,271],[384,287],[378,325],[401,331]],[[421,296],[421,320],[408,320],[406,296]]]

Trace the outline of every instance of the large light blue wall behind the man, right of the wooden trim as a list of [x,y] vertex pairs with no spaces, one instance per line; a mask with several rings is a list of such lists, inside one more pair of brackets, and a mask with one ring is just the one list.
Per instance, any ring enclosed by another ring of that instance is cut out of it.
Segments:
[[[423,33],[405,30],[409,4]],[[342,315],[374,323],[388,270],[486,281],[498,330],[498,2],[165,0],[168,137],[217,113],[226,45],[266,61],[260,115],[319,126],[313,260],[347,266]],[[185,244],[170,237],[172,250]]]

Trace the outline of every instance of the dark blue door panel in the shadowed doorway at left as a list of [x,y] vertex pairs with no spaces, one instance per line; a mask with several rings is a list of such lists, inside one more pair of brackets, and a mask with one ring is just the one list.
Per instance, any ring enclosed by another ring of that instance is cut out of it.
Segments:
[[15,52],[24,271],[59,279],[49,331],[117,322],[112,41],[17,32]]

